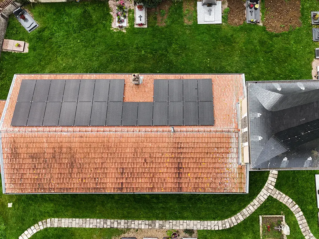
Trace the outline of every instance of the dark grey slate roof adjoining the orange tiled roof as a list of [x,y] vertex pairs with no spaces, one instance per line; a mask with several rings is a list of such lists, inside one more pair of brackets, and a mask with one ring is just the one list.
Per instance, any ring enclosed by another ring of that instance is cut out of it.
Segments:
[[319,81],[247,82],[252,169],[319,167]]

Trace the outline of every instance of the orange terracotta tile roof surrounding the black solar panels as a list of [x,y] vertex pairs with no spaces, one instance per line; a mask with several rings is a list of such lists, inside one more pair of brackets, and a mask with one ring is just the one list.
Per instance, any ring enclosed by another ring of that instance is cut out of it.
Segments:
[[[6,193],[245,192],[235,104],[241,75],[17,75],[1,127]],[[211,78],[214,126],[11,127],[22,79],[125,79],[124,101],[152,101],[154,79]]]

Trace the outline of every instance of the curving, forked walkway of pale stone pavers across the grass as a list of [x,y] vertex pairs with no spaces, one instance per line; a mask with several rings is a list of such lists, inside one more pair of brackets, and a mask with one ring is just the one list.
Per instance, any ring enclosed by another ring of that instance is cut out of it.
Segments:
[[193,230],[222,230],[231,228],[244,221],[252,214],[267,198],[273,198],[284,203],[290,208],[297,218],[299,227],[305,239],[316,239],[312,235],[307,221],[301,212],[299,206],[284,193],[278,191],[274,186],[276,184],[278,171],[271,171],[268,180],[257,195],[243,210],[236,215],[220,221],[162,221],[162,220],[114,220],[114,219],[92,219],[92,218],[49,218],[39,221],[37,224],[28,228],[19,239],[30,238],[33,234],[44,228],[135,228],[135,229],[193,229]]

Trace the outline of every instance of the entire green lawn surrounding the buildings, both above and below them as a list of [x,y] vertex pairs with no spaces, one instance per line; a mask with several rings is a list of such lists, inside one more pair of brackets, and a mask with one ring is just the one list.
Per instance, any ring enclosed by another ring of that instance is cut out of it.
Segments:
[[[182,3],[173,4],[166,13],[166,26],[154,22],[146,29],[130,25],[126,33],[110,29],[107,1],[33,4],[29,9],[40,25],[32,33],[12,16],[9,19],[5,38],[24,40],[30,46],[27,54],[2,52],[0,99],[7,98],[17,73],[245,73],[248,81],[309,79],[318,47],[309,23],[310,11],[319,9],[316,0],[301,0],[303,26],[280,34],[252,24],[197,25],[195,19],[194,24],[184,25]],[[132,22],[132,12],[129,18]],[[315,173],[280,172],[277,187],[299,204],[318,238]],[[247,206],[267,176],[268,172],[250,172],[248,195],[1,194],[0,215],[8,239],[18,238],[26,228],[50,217],[220,220]],[[12,208],[7,207],[8,202],[13,202]],[[281,213],[291,229],[288,238],[303,238],[288,207],[272,198],[240,225],[199,231],[198,236],[260,238],[258,215]],[[117,229],[49,228],[32,238],[110,238],[120,233]]]

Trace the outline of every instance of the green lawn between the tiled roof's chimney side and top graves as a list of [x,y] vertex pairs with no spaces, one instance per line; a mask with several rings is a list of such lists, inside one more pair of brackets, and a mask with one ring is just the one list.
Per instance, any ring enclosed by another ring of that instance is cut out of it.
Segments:
[[[307,3],[319,7],[315,0]],[[104,1],[33,6],[40,26],[32,33],[12,16],[9,19],[6,38],[25,40],[30,47],[27,54],[2,53],[1,99],[7,97],[16,73],[245,73],[246,80],[311,78],[315,43],[308,18],[303,19],[305,26],[282,34],[253,24],[185,26],[182,3],[177,3],[166,13],[165,27],[130,25],[123,33],[110,29]]]

